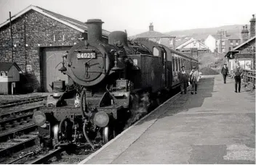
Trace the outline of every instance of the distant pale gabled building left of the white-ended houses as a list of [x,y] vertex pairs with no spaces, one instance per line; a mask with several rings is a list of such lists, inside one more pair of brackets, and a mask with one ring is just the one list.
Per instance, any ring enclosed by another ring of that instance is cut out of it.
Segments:
[[176,50],[186,53],[190,53],[192,51],[207,52],[209,48],[195,38],[189,38],[185,42],[180,43],[180,45],[177,45]]

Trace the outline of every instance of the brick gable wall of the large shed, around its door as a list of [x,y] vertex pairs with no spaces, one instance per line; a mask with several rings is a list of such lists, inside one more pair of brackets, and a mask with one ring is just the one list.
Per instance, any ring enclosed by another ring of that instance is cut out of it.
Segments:
[[[87,34],[84,35],[87,37]],[[31,65],[33,75],[39,78],[39,46],[71,46],[75,42],[78,43],[78,38],[82,36],[78,30],[31,10],[12,21],[12,42],[16,45],[14,62],[17,62],[23,71],[26,65]],[[0,62],[12,62],[9,24],[0,28]]]

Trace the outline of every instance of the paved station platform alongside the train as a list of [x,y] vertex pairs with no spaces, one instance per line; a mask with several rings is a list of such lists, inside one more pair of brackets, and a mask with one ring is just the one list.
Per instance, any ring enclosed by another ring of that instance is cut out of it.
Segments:
[[255,164],[255,91],[204,76],[80,164]]

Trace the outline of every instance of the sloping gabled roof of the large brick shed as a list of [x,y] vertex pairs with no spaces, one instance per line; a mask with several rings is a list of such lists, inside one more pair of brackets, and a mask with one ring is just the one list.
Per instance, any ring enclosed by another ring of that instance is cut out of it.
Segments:
[[[73,27],[76,30],[79,30],[81,33],[87,32],[87,25],[85,22],[81,22],[79,20],[74,20],[73,18],[70,17],[65,17],[62,14],[57,14],[55,12],[51,12],[47,9],[43,9],[41,7],[36,7],[33,5],[30,5],[29,7],[26,7],[25,9],[23,9],[22,11],[20,11],[19,13],[12,15],[12,20],[17,19],[17,17],[20,17],[21,15],[25,14],[26,12],[30,11],[31,9],[33,9],[36,12],[39,12],[41,14],[46,15],[47,17],[51,17],[54,20],[57,20],[58,22],[61,22],[65,25],[68,25],[69,27]],[[9,20],[3,22],[0,24],[0,27],[7,25],[9,23]],[[105,37],[108,37],[110,32],[108,32],[107,30],[103,30],[103,35]]]

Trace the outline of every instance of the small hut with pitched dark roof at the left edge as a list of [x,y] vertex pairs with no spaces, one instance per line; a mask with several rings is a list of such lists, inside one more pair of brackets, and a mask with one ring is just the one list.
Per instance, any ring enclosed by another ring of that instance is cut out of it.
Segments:
[[20,72],[21,69],[15,62],[0,62],[0,94],[15,93]]

